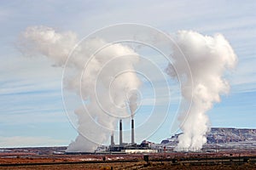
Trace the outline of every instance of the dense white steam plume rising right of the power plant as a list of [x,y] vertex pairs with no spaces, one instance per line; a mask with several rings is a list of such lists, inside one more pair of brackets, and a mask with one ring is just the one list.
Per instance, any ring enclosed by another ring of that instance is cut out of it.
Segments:
[[[201,150],[209,130],[206,112],[213,103],[220,102],[220,94],[229,92],[229,83],[223,76],[224,71],[236,65],[236,54],[220,34],[204,37],[195,31],[178,31],[175,42],[178,48],[173,46],[174,62],[166,71],[171,77],[181,77],[182,95],[188,104],[191,102],[190,110],[179,115],[183,134],[176,150]],[[184,68],[180,50],[188,60],[190,72]]]

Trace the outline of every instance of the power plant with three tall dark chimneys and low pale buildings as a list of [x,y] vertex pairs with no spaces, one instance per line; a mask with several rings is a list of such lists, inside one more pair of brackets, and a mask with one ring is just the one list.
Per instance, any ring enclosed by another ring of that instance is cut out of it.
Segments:
[[123,123],[119,120],[119,144],[114,144],[113,133],[110,137],[110,145],[108,151],[121,153],[156,153],[158,150],[151,150],[147,143],[136,144],[134,119],[131,117],[131,143],[123,142]]

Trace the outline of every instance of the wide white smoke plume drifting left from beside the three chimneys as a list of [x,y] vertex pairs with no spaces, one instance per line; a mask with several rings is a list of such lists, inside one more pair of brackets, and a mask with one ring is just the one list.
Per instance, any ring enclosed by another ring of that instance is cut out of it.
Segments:
[[133,68],[139,56],[121,44],[102,48],[107,42],[93,38],[80,43],[68,58],[77,42],[73,32],[59,33],[49,27],[34,26],[21,34],[20,49],[25,54],[47,56],[61,67],[68,59],[66,66],[75,73],[66,77],[65,88],[78,95],[81,93],[86,102],[85,108],[81,106],[74,111],[79,136],[69,144],[67,151],[94,151],[98,144],[108,141],[120,116],[130,116],[127,102],[137,107],[136,94],[131,92],[137,91],[141,84]]

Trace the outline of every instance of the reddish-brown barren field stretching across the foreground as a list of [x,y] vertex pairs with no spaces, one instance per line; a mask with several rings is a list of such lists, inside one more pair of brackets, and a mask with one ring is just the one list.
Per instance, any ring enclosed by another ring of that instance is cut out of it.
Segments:
[[148,162],[143,156],[0,154],[0,169],[256,169],[256,156],[247,154],[152,154]]

